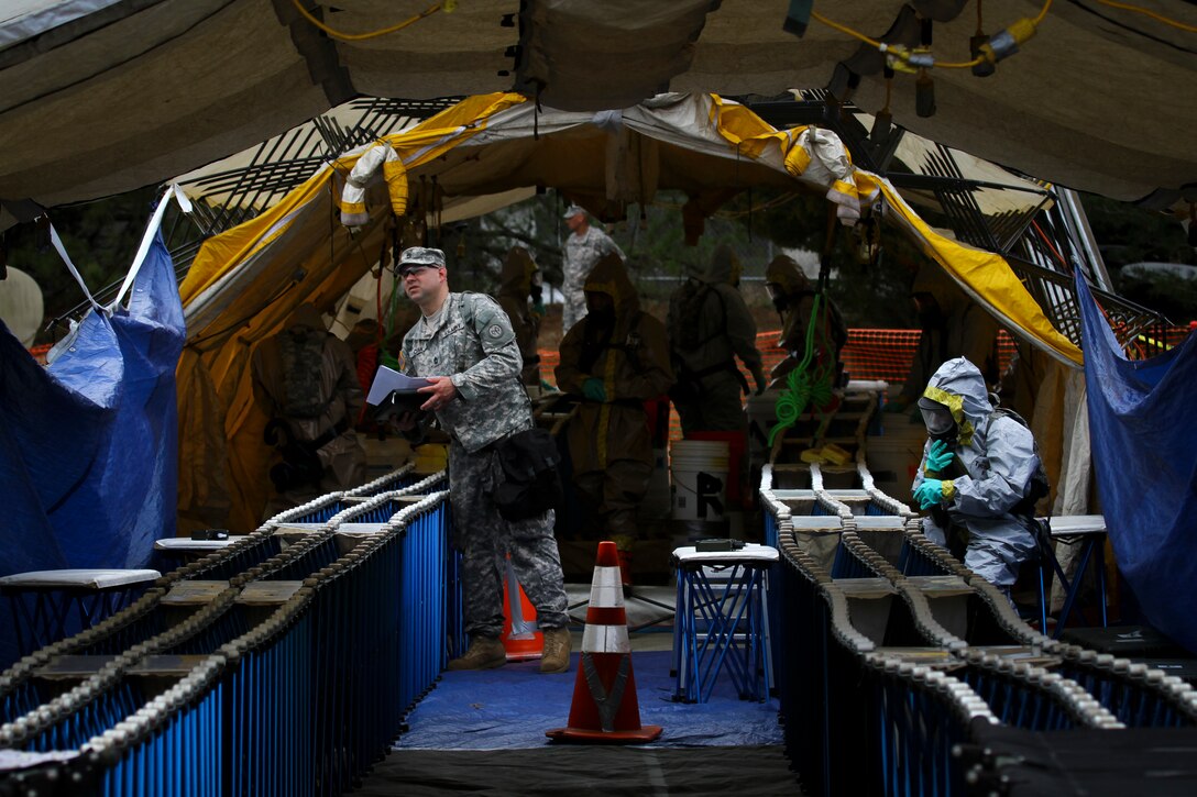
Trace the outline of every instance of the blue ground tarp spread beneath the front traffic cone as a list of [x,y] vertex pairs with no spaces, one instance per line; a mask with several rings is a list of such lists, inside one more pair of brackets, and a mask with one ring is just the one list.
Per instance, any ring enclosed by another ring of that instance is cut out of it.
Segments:
[[[652,747],[736,747],[782,744],[778,702],[740,700],[727,673],[710,701],[672,700],[669,651],[632,655],[642,725],[661,725]],[[569,673],[541,675],[539,662],[494,670],[444,673],[408,717],[411,730],[395,749],[498,750],[552,744],[545,731],[564,728],[577,679],[578,653]]]

